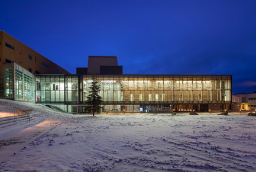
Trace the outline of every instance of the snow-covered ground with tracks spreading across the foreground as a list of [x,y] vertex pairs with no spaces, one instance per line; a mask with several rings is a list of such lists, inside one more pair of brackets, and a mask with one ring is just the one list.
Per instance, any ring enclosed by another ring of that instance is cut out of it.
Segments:
[[[7,100],[0,100],[1,111],[8,111],[6,105]],[[0,164],[0,171],[256,171],[255,116],[147,113],[92,117],[43,105],[18,105],[34,109],[34,123],[50,128],[20,150],[9,152],[11,157]],[[24,127],[33,130],[35,125]],[[1,142],[22,136],[22,131],[9,132],[9,138]],[[0,156],[14,145],[1,144]]]

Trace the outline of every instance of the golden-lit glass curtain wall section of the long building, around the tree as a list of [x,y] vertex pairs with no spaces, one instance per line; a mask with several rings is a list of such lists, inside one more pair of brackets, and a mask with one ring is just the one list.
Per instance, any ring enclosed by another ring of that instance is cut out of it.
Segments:
[[[91,77],[83,76],[82,101],[88,96]],[[140,109],[131,104],[231,102],[231,76],[104,75],[96,77],[101,85],[100,95],[103,98],[103,105],[108,105],[105,106],[108,107],[108,111]]]

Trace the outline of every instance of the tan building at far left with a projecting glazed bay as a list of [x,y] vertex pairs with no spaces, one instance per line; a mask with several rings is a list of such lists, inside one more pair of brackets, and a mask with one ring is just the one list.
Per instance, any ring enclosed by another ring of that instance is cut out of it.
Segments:
[[35,74],[70,74],[0,31],[0,98],[35,101]]

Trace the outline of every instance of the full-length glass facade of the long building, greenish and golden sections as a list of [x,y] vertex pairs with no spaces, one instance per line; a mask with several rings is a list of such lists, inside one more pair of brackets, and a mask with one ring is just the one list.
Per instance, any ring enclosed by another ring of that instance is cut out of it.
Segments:
[[[195,104],[231,103],[232,76],[124,74],[96,77],[101,86],[102,112],[145,112],[148,107],[170,109],[173,105],[189,105],[186,109],[191,109]],[[37,75],[35,82],[37,103],[67,105],[63,111],[83,112],[92,76]]]

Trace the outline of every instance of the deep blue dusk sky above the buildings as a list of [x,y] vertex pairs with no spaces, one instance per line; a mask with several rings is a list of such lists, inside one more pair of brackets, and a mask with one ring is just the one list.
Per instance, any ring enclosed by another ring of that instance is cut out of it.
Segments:
[[256,91],[256,1],[2,1],[0,30],[76,73],[117,56],[124,74],[232,74]]

